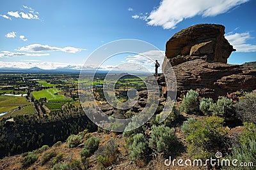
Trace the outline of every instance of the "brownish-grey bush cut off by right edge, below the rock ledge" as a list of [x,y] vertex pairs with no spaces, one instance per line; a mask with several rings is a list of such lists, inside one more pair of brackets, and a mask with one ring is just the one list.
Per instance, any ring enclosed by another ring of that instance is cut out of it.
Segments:
[[238,103],[234,104],[236,114],[243,122],[256,124],[256,94],[248,93]]

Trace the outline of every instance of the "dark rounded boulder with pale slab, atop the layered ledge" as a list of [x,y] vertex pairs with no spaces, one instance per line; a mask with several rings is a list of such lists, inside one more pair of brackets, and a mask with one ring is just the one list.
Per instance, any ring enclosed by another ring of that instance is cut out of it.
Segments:
[[[198,24],[177,32],[166,43],[165,55],[176,66],[185,57],[197,56],[208,62],[227,63],[231,52],[235,51],[224,37],[225,27],[217,24]],[[179,57],[179,59],[176,59]],[[201,58],[202,57],[202,58]]]

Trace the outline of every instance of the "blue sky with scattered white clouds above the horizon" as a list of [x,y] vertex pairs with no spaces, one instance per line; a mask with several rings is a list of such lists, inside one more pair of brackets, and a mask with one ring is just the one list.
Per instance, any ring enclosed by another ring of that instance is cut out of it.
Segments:
[[[228,63],[243,64],[256,59],[255,9],[254,0],[3,0],[0,67],[79,69],[94,50],[118,39],[140,39],[164,52],[175,32],[201,23],[225,25],[237,49]],[[161,52],[142,53],[163,59]],[[116,55],[102,69],[134,60],[154,69],[136,53]]]

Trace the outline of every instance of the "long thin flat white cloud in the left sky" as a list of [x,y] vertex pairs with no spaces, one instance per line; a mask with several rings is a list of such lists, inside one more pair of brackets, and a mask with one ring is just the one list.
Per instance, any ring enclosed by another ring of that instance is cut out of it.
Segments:
[[67,46],[64,48],[55,47],[55,46],[49,46],[49,45],[40,45],[40,44],[33,44],[28,46],[22,46],[18,49],[18,51],[24,51],[24,52],[53,52],[53,51],[60,51],[60,52],[67,52],[67,53],[76,53],[81,52],[83,48],[75,48],[72,46]]

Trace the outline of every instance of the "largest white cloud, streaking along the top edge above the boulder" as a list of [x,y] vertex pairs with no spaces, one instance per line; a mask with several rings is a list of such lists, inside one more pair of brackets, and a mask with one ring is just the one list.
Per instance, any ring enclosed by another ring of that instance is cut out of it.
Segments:
[[[147,24],[174,29],[179,22],[187,18],[196,15],[214,17],[248,1],[250,0],[163,0],[156,10],[151,11]],[[145,17],[141,19],[145,20]]]

